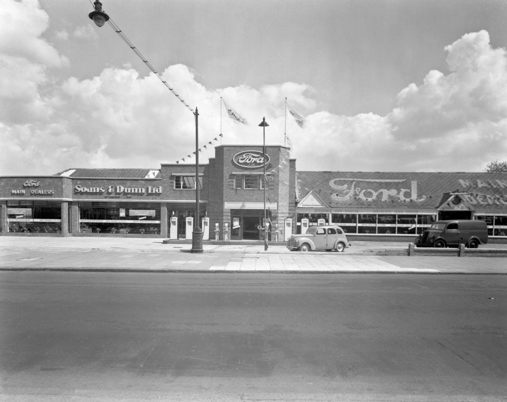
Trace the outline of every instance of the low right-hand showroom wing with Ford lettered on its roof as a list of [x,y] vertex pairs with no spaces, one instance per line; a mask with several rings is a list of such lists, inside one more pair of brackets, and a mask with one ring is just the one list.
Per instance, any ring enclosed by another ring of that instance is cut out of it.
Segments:
[[480,219],[506,236],[507,174],[297,172],[298,233],[333,223],[350,235],[418,235],[436,220]]

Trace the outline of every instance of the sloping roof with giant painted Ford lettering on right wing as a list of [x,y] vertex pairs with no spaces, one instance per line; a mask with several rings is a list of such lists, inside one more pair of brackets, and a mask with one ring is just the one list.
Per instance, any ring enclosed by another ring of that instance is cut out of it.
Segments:
[[330,207],[436,208],[445,193],[463,193],[477,209],[507,208],[507,173],[296,173],[300,199],[313,190]]

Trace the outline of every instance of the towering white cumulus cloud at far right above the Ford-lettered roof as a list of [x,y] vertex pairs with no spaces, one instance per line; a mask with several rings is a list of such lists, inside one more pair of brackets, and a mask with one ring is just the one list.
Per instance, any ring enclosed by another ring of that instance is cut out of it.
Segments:
[[[443,169],[458,153],[462,162],[452,169],[469,170],[507,157],[507,58],[493,49],[488,32],[467,33],[446,46],[449,74],[429,71],[423,84],[410,84],[397,96],[388,115],[392,135],[412,143]],[[413,155],[416,156],[415,154]],[[424,161],[411,165],[422,169]],[[443,169],[445,170],[445,169]]]

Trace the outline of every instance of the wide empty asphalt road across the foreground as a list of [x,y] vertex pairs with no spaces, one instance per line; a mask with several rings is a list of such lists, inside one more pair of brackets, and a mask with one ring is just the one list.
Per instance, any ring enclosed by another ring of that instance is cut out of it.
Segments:
[[0,272],[0,400],[497,401],[507,277]]

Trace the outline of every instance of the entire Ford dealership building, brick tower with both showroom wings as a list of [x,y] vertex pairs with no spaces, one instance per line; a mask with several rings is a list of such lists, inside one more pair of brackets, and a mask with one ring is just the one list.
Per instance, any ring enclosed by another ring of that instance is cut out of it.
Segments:
[[[189,238],[195,181],[195,165],[185,164],[2,176],[0,231]],[[352,237],[411,236],[458,218],[507,238],[507,173],[296,171],[281,145],[266,155],[259,145],[221,145],[199,166],[199,185],[204,240],[263,240],[265,204],[271,241],[324,223]]]

